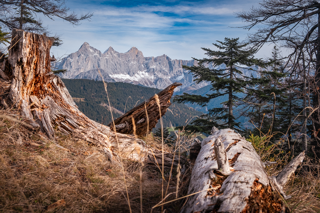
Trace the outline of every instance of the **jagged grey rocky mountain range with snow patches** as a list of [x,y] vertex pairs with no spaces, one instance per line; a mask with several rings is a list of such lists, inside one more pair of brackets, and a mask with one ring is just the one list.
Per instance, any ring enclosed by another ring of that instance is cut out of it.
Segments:
[[[195,84],[192,73],[182,68],[182,65],[196,65],[195,60],[171,59],[166,55],[144,57],[136,47],[128,52],[119,53],[109,47],[104,53],[91,47],[87,42],[75,53],[64,57],[55,67],[67,69],[62,78],[102,80],[127,82],[146,87],[164,89],[174,82],[182,83],[179,90],[195,90],[207,86],[207,82]],[[209,65],[210,66],[210,65]],[[211,67],[212,68],[212,67]],[[217,67],[223,68],[223,67]],[[243,71],[245,75],[251,72]]]

